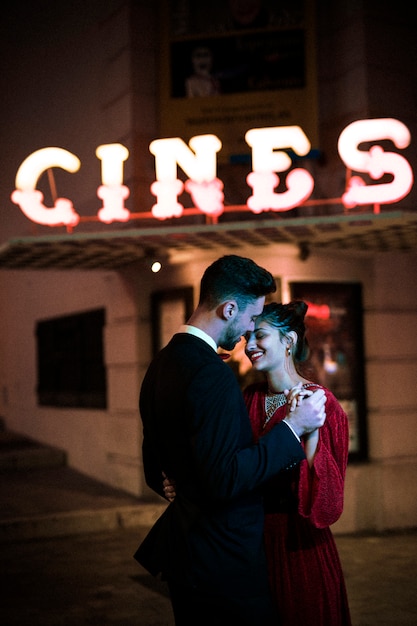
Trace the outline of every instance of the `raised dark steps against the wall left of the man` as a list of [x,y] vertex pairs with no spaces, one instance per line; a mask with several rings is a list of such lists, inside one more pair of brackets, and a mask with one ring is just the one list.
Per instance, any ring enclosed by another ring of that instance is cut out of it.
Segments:
[[3,542],[149,526],[165,504],[147,502],[66,465],[63,452],[0,429]]

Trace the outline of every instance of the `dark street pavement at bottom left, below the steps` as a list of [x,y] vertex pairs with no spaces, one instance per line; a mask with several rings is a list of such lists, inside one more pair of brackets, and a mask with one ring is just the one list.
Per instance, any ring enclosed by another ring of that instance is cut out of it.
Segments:
[[133,559],[144,529],[1,546],[2,626],[174,626],[166,588]]

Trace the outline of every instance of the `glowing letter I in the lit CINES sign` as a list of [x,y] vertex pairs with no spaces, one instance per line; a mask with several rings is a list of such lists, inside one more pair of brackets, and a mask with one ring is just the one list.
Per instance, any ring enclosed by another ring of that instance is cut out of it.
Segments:
[[129,197],[129,188],[123,185],[123,163],[129,156],[127,148],[120,143],[99,146],[96,156],[101,160],[101,180],[97,196],[103,200],[103,207],[98,212],[101,222],[127,222],[130,211],[124,206]]

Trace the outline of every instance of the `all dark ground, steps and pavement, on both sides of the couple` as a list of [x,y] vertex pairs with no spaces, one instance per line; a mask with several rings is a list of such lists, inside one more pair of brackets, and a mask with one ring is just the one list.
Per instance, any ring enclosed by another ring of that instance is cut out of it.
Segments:
[[[163,503],[111,489],[68,468],[61,452],[1,431],[0,502],[2,625],[174,626],[165,585],[133,559]],[[336,543],[353,626],[415,626],[417,528]]]

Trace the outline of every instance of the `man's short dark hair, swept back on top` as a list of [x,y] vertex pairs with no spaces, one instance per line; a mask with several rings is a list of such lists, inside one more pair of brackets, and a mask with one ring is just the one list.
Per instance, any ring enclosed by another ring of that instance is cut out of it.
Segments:
[[229,254],[214,261],[204,272],[199,304],[212,309],[226,300],[236,300],[239,308],[245,310],[250,302],[276,289],[268,270],[252,259]]

